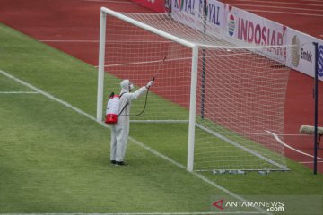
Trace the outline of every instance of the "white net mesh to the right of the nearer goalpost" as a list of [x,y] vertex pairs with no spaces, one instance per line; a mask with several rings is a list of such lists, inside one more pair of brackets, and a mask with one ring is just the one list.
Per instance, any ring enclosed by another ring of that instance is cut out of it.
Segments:
[[248,49],[201,51],[196,169],[285,167],[284,147],[266,131],[284,133],[288,72]]

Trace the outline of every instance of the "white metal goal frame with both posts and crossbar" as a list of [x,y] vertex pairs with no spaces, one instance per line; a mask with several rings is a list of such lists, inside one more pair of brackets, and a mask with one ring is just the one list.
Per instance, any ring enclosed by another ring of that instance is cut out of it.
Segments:
[[[189,116],[188,116],[188,159],[187,159],[188,171],[193,171],[194,169],[196,127],[204,130],[206,133],[210,133],[216,136],[217,138],[222,139],[224,142],[228,142],[228,144],[231,144],[239,148],[240,150],[245,150],[249,154],[258,157],[259,159],[265,160],[267,163],[270,163],[281,170],[289,170],[284,165],[281,165],[275,162],[274,160],[267,159],[265,156],[258,154],[257,151],[249,150],[248,148],[240,145],[239,143],[227,140],[219,133],[214,133],[212,131],[209,131],[203,125],[196,124],[196,92],[197,92],[196,90],[197,90],[197,82],[198,82],[197,73],[198,73],[199,50],[200,48],[203,49],[205,47],[213,47],[213,46],[189,42],[186,39],[181,39],[163,30],[159,30],[143,22],[136,21],[135,19],[130,18],[125,14],[114,12],[105,7],[100,8],[100,50],[99,50],[98,94],[97,94],[97,116],[96,116],[98,122],[101,123],[103,121],[102,117],[103,117],[103,100],[104,100],[104,76],[105,76],[104,68],[105,68],[105,54],[106,54],[105,49],[106,49],[106,35],[107,35],[107,31],[106,31],[107,15],[118,18],[119,20],[122,20],[124,22],[133,24],[136,27],[152,32],[156,35],[161,36],[162,38],[170,39],[173,42],[176,42],[184,47],[188,47],[189,49],[191,49],[192,56],[191,56],[191,68],[190,68],[191,77],[190,77]],[[259,48],[259,47],[240,47],[240,48],[253,49],[253,48]]]

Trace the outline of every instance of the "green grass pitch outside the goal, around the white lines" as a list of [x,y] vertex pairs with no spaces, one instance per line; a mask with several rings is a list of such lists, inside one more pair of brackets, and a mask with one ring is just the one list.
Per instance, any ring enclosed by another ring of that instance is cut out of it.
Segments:
[[[95,116],[97,71],[0,25],[0,70]],[[0,74],[0,91],[31,89]],[[0,94],[0,213],[210,211],[224,194],[130,141],[109,165],[109,129],[40,93]],[[144,131],[144,132],[143,132]],[[132,124],[130,136],[186,165],[188,125]],[[323,176],[287,160],[266,176],[198,173],[238,195],[323,195]]]

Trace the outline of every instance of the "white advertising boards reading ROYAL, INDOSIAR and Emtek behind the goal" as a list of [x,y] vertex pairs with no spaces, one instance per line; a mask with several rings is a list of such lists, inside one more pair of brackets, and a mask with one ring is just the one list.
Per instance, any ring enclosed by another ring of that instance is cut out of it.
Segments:
[[[323,81],[323,40],[217,0],[171,0],[171,12],[174,20],[205,34],[217,34],[216,37],[240,46],[268,47],[260,55],[312,77],[315,68],[313,42],[318,42],[319,79]],[[270,48],[285,45],[290,47]]]

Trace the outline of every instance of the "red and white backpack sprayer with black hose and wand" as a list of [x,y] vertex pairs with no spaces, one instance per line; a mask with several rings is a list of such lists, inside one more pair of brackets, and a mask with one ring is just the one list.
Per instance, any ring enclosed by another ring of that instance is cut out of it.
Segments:
[[[162,63],[159,64],[157,71],[154,73],[153,79],[152,79],[153,82],[155,81],[155,78],[157,77],[158,73],[160,72],[160,70],[162,68],[162,64],[165,62],[166,58],[167,58],[167,56],[165,56],[162,59]],[[149,88],[147,89],[147,92],[146,92],[143,110],[139,114],[131,115],[131,116],[140,116],[144,113],[145,107],[147,105],[148,92],[149,92]],[[120,98],[122,97],[122,95],[123,95],[123,93],[121,95],[115,95],[114,92],[112,92],[110,94],[108,104],[107,104],[107,111],[106,111],[106,119],[105,119],[106,124],[116,124],[118,122],[118,116],[120,116],[122,111],[127,107],[128,103],[124,107],[122,107],[121,111],[119,111],[119,109],[120,109],[119,103],[120,103]],[[125,116],[125,115],[123,115],[123,116]]]

